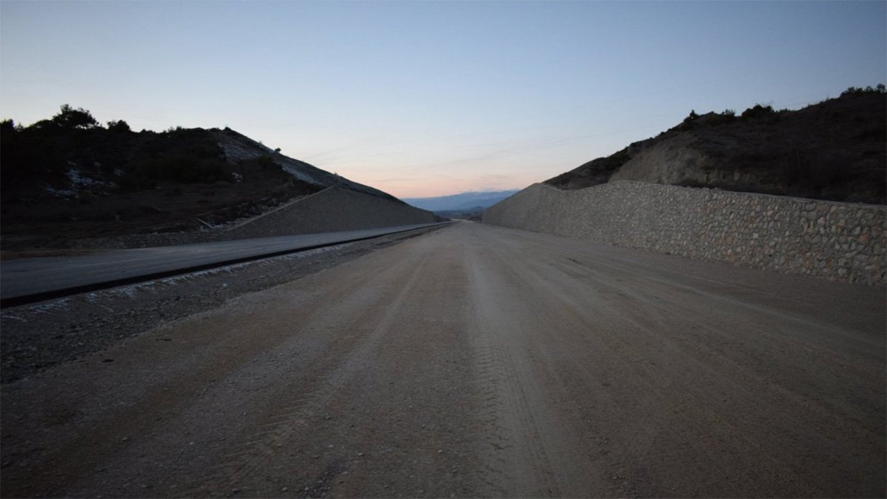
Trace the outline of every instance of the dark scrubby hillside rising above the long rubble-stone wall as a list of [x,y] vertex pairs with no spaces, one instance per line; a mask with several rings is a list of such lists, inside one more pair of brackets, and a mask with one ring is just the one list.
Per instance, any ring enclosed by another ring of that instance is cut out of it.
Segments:
[[546,180],[581,189],[613,180],[883,204],[887,94],[848,89],[797,111],[755,106],[697,115],[657,137]]

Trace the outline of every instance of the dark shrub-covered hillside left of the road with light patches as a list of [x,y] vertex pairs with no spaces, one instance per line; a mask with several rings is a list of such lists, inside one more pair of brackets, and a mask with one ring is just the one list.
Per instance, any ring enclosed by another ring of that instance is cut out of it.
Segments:
[[328,186],[399,202],[227,128],[135,132],[67,106],[27,127],[0,123],[0,178],[4,249],[195,231]]

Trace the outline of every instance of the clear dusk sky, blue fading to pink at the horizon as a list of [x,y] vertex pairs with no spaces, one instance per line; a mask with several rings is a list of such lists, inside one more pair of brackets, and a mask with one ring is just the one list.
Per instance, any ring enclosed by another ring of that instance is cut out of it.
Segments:
[[0,118],[232,129],[399,197],[887,80],[878,2],[0,2]]

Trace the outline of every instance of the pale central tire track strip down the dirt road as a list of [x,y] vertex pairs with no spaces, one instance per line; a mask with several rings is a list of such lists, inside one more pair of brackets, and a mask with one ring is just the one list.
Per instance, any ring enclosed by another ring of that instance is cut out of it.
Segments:
[[503,272],[508,255],[467,246],[466,265],[475,307],[481,414],[489,428],[485,446],[486,495],[577,496],[600,490],[598,471],[581,451],[556,410],[557,392],[542,382],[544,366],[533,353],[528,329],[540,324],[537,308],[515,292]]

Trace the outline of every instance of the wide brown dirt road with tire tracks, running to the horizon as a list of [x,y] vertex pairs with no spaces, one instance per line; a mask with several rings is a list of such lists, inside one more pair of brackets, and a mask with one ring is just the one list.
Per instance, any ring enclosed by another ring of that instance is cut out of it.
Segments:
[[10,496],[883,496],[883,289],[460,223],[3,387]]

